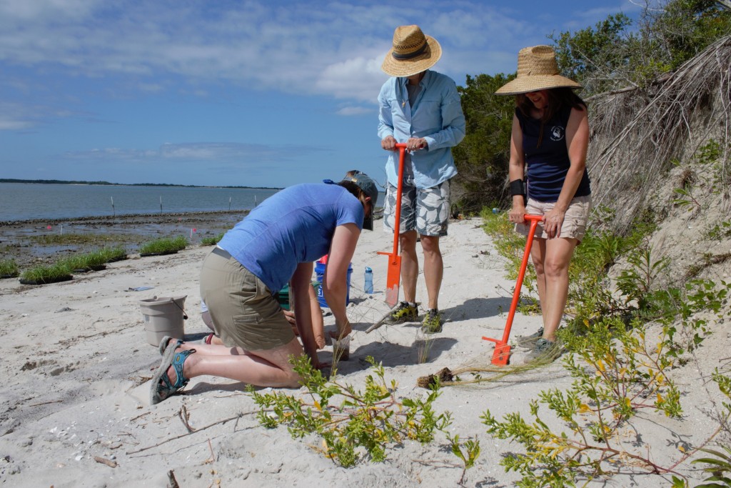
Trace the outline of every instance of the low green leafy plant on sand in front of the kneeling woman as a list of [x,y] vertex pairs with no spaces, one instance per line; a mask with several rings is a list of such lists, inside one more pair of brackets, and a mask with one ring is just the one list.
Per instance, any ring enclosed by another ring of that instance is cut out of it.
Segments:
[[[444,431],[450,425],[449,412],[437,414],[433,410],[433,402],[439,397],[438,385],[425,399],[398,399],[395,380],[387,383],[382,365],[370,356],[367,361],[374,374],[368,375],[365,389],[360,391],[327,380],[311,367],[306,356],[292,359],[295,371],[303,378],[304,397],[251,390],[254,402],[260,407],[260,424],[268,428],[287,425],[292,438],[318,435],[322,447],[315,449],[346,468],[364,457],[382,462],[387,457],[387,448],[404,440],[429,443],[437,430]],[[336,400],[338,404],[334,404]],[[458,439],[455,442],[459,445]],[[474,444],[466,449],[465,462],[471,466],[479,454],[479,446],[477,451]]]

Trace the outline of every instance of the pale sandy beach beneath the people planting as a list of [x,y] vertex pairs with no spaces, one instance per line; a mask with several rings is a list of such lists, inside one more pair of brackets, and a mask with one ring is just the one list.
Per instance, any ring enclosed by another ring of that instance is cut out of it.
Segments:
[[[423,398],[428,391],[417,386],[417,378],[443,367],[490,363],[493,345],[482,336],[501,336],[514,283],[504,277],[504,260],[480,223],[453,221],[442,241],[439,304],[447,323],[433,335],[428,361],[422,363],[415,345],[418,323],[365,332],[388,308],[383,301],[387,258],[377,252],[389,251],[393,241],[380,223],[376,231],[363,232],[352,263],[350,359],[339,363],[338,382],[363,388],[371,373],[365,359],[373,356],[385,367],[386,380],[397,381],[397,397]],[[172,471],[186,488],[344,487],[355,482],[361,487],[454,487],[461,478],[468,487],[511,487],[519,476],[504,473],[499,461],[520,446],[492,438],[480,416],[488,408],[497,417],[527,415],[539,391],[565,389],[572,381],[559,360],[491,382],[442,388],[435,410],[452,413],[449,431],[462,440],[480,441],[480,456],[466,473],[441,432],[432,443],[407,440],[393,446],[385,462],[364,459],[354,468],[341,468],[316,450],[321,440],[314,435],[292,439],[284,427],[260,426],[257,406],[243,384],[232,380],[194,378],[184,394],[150,406],[149,380],[160,359],[145,340],[139,302],[186,295],[186,339],[200,339],[208,329],[200,319],[198,278],[210,249],[132,255],[104,271],[54,285],[0,280],[0,484],[166,487]],[[366,266],[374,270],[372,295],[363,292]],[[151,289],[134,291],[140,287]],[[425,299],[423,278],[418,287],[417,297]],[[537,315],[516,315],[511,337],[532,333],[540,322]],[[334,328],[331,316],[325,317],[325,326]],[[622,429],[627,451],[646,453],[651,446],[657,462],[671,465],[681,449],[697,446],[716,429],[708,398],[717,400],[718,394],[709,375],[727,356],[727,333],[717,334],[724,340],[708,341],[704,362],[676,371],[674,379],[684,392],[683,419],[643,410]],[[526,351],[513,352],[511,363],[520,364]],[[320,357],[330,361],[330,345]],[[548,424],[564,428],[544,410]],[[676,469],[703,477],[688,464]],[[669,479],[638,468],[590,486],[657,487],[667,486]]]

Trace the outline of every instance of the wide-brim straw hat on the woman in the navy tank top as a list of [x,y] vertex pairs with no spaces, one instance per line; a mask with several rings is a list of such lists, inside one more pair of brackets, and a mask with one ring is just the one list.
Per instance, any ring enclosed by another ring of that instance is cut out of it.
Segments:
[[552,88],[581,88],[579,83],[558,74],[556,52],[550,46],[523,48],[518,53],[518,76],[495,94],[517,95]]

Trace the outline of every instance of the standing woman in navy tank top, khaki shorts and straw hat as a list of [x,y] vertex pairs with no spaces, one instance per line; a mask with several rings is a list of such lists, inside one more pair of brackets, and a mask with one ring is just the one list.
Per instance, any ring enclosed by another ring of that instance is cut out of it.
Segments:
[[496,94],[515,95],[510,140],[510,221],[528,234],[525,214],[541,215],[531,247],[543,327],[519,337],[532,348],[527,361],[553,361],[561,353],[556,330],[569,291],[569,262],[583,239],[591,189],[586,171],[589,128],[586,104],[573,88],[580,85],[558,75],[550,46],[523,48],[518,76]]

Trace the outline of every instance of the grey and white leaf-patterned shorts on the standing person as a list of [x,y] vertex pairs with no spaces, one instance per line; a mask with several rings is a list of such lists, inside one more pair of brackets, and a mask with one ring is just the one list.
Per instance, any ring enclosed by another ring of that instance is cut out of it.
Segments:
[[[383,228],[393,233],[396,187],[388,183],[383,209]],[[450,217],[450,182],[436,187],[417,188],[413,181],[404,181],[401,189],[401,223],[398,232],[416,230],[420,236],[446,236]]]

